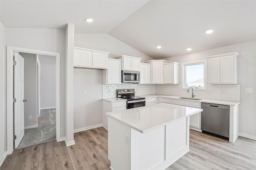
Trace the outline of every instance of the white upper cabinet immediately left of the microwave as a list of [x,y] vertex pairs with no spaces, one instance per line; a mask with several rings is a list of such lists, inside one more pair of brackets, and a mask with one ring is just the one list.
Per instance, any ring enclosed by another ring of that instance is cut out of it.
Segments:
[[118,59],[108,59],[108,69],[103,70],[103,84],[122,84],[121,62]]

